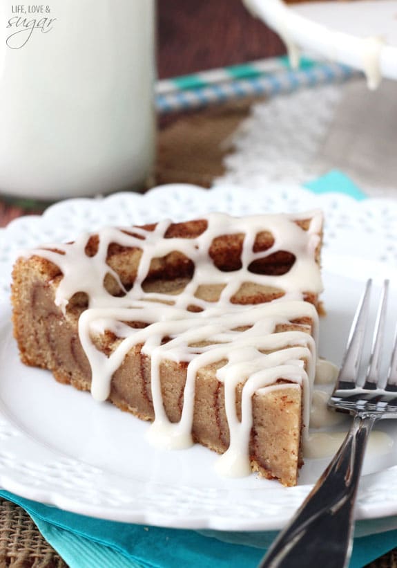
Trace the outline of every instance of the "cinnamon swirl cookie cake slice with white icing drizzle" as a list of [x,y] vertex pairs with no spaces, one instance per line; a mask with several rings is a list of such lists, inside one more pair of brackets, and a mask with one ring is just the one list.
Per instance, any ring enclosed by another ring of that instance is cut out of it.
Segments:
[[320,212],[213,213],[30,250],[13,271],[21,360],[152,421],[151,443],[222,454],[221,475],[295,485],[321,241]]

